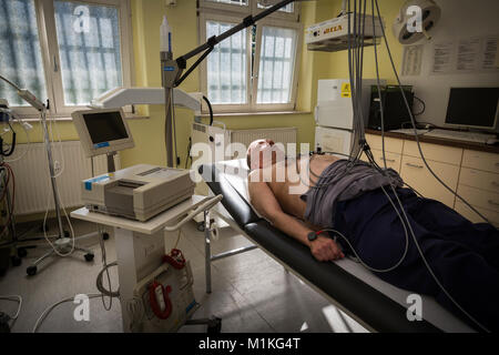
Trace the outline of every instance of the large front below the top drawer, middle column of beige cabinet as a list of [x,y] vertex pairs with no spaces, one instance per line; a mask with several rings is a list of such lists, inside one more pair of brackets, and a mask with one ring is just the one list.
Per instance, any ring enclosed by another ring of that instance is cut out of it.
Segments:
[[[456,191],[459,176],[459,166],[428,161],[431,170],[450,189]],[[422,159],[403,156],[400,176],[411,187],[416,189],[425,197],[432,199],[454,207],[455,195],[444,187],[434,175],[426,169]]]

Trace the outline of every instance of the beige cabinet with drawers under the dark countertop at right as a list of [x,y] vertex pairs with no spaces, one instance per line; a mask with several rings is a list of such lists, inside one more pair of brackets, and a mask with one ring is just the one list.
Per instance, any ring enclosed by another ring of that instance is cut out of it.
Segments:
[[[383,166],[381,136],[366,134],[376,162]],[[499,154],[421,142],[431,170],[452,191],[490,222],[499,225]],[[483,222],[469,206],[445,189],[426,168],[415,141],[386,138],[386,161],[404,181],[425,197],[454,207],[472,222]]]

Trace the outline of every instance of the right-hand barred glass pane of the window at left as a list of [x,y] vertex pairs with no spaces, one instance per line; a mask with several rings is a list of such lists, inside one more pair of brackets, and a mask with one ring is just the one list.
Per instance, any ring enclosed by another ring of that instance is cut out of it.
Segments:
[[118,9],[69,1],[54,9],[64,103],[88,104],[122,87]]

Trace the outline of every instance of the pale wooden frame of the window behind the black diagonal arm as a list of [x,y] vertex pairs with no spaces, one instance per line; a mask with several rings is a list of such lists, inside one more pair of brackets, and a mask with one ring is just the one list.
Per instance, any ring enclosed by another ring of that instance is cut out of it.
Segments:
[[[256,0],[248,0],[247,7],[230,4],[230,3],[220,3],[207,0],[198,0],[198,42],[200,44],[204,43],[206,38],[206,21],[224,21],[225,19],[231,19],[230,22],[235,21],[234,23],[240,23],[243,21],[244,17],[248,14],[256,14],[264,9],[259,9],[257,7]],[[304,37],[304,27],[299,21],[299,10],[301,4],[298,2],[294,2],[294,12],[274,12],[267,18],[258,21],[256,24],[256,42],[255,42],[255,75],[252,78],[252,33],[251,28],[246,29],[246,36],[248,39],[247,45],[247,65],[249,75],[248,79],[248,90],[246,95],[249,97],[247,104],[212,104],[214,112],[216,113],[241,113],[241,112],[283,112],[283,111],[294,111],[296,109],[296,97],[297,97],[297,87],[298,87],[298,74],[296,71],[301,68],[302,60],[302,50],[303,50],[303,37]],[[220,19],[220,20],[217,20]],[[227,20],[225,20],[227,21]],[[291,100],[289,103],[257,103],[257,93],[258,93],[258,77],[259,77],[259,55],[262,52],[262,33],[263,27],[279,27],[279,28],[289,28],[297,31],[296,37],[296,52],[295,52],[295,63],[293,68],[293,81],[291,87]],[[200,88],[201,91],[207,93],[207,63],[206,60],[200,65]],[[203,113],[206,113],[206,108],[203,105]]]

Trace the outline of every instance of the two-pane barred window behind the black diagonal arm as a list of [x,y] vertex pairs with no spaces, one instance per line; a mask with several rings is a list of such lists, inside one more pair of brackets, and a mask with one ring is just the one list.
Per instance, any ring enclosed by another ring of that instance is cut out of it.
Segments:
[[[263,8],[255,0],[202,0],[200,43]],[[303,27],[291,3],[218,43],[201,67],[201,88],[217,112],[294,110]]]

